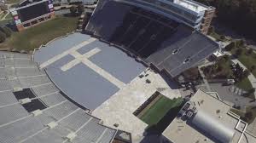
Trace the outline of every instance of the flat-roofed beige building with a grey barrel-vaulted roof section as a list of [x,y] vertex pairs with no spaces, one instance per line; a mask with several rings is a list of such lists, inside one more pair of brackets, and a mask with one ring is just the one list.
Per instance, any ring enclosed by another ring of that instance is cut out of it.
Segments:
[[214,95],[198,90],[163,132],[162,142],[255,142],[256,137],[247,132],[247,123]]

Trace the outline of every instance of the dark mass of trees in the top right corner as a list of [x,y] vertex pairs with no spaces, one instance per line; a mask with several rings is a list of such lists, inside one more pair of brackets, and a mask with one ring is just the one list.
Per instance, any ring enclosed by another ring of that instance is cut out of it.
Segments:
[[256,0],[195,0],[217,9],[217,20],[256,40]]

